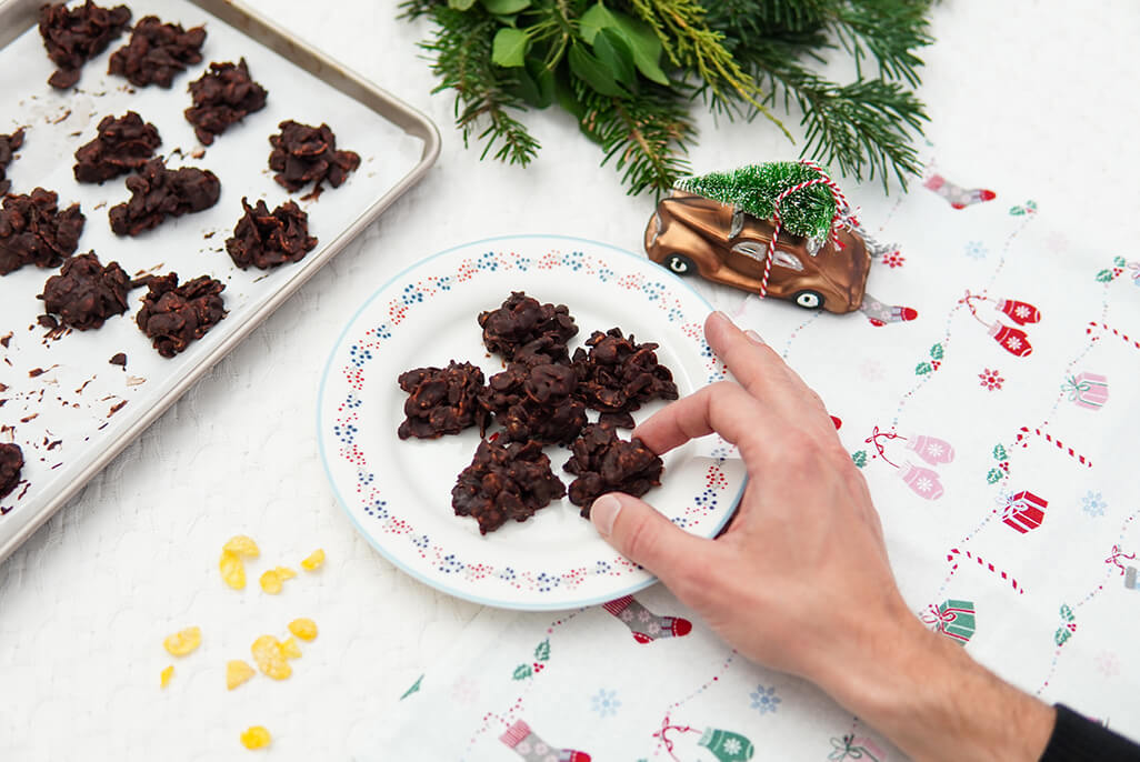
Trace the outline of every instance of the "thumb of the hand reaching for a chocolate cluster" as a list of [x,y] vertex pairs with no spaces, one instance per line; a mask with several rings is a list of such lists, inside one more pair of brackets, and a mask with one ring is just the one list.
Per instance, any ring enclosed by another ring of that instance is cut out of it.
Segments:
[[708,540],[670,522],[648,502],[622,492],[603,494],[589,509],[589,519],[606,542],[668,584],[702,564]]

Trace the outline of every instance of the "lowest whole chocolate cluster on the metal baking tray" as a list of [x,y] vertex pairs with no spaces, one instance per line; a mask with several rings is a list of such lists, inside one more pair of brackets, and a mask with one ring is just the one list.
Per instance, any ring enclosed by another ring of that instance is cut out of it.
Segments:
[[136,318],[139,329],[164,358],[186,350],[226,317],[221,298],[225,285],[202,276],[178,285],[178,275],[155,276],[147,284],[142,309]]

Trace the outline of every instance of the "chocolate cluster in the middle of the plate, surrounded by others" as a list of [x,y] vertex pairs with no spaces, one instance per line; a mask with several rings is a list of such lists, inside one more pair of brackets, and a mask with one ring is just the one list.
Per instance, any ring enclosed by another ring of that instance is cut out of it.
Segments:
[[586,425],[586,405],[573,396],[577,386],[569,366],[512,362],[490,377],[481,401],[508,441],[568,444]]

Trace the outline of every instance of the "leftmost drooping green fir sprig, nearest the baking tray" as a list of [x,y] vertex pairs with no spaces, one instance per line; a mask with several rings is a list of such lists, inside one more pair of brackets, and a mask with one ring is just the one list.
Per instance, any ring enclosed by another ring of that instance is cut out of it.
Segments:
[[[429,5],[418,0],[416,7]],[[538,153],[539,144],[507,109],[527,110],[513,95],[516,87],[512,69],[491,63],[491,44],[498,22],[478,9],[461,11],[445,5],[425,8],[437,24],[433,36],[421,48],[434,56],[432,72],[440,82],[432,92],[455,90],[455,124],[463,132],[463,145],[482,124],[475,140],[482,141],[486,157],[498,144],[494,157],[526,166]]]

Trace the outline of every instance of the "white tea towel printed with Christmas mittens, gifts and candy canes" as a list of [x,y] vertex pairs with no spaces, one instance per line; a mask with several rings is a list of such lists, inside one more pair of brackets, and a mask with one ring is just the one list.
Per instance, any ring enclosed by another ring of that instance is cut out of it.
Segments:
[[[1140,738],[1140,254],[1088,251],[1064,214],[970,180],[852,194],[876,238],[861,313],[701,288],[825,401],[914,615]],[[660,587],[480,617],[399,707],[359,759],[904,759]]]

